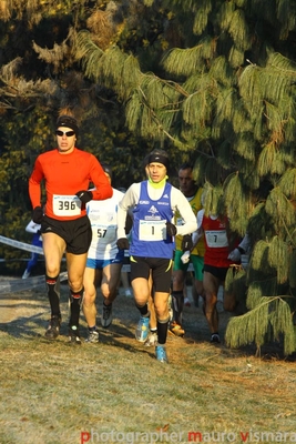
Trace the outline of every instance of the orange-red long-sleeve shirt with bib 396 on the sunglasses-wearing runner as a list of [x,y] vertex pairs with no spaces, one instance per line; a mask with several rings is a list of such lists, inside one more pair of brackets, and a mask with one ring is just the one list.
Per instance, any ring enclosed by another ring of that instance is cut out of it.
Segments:
[[29,194],[33,209],[41,206],[41,182],[45,182],[45,215],[69,221],[86,214],[85,205],[75,193],[88,190],[90,182],[93,200],[109,199],[112,186],[96,158],[85,151],[74,149],[70,154],[61,154],[58,149],[40,154],[29,179]]

